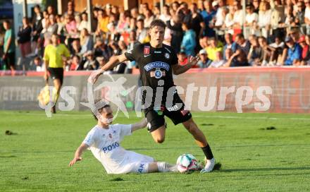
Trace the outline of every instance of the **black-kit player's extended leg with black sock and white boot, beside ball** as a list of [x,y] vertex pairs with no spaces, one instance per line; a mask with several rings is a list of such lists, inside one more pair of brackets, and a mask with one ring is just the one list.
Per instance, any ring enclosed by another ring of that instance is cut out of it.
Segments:
[[202,148],[204,155],[206,156],[206,166],[202,169],[201,172],[212,172],[216,161],[213,157],[210,145],[206,141],[206,137],[204,133],[198,128],[197,124],[191,119],[183,122],[183,125],[187,129],[188,132],[192,134],[194,139],[196,140],[197,145]]

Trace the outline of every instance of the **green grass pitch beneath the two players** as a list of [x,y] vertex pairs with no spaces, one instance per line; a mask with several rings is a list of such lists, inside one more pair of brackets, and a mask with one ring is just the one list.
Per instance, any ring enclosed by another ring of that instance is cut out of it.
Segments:
[[[0,112],[0,191],[310,191],[309,114],[194,112],[221,170],[209,174],[108,175],[90,151],[68,167],[96,124],[89,112]],[[140,118],[118,116],[114,123]],[[11,131],[13,135],[6,135]],[[203,153],[181,125],[168,120],[166,140],[146,129],[122,143],[128,150],[175,163],[182,153]]]

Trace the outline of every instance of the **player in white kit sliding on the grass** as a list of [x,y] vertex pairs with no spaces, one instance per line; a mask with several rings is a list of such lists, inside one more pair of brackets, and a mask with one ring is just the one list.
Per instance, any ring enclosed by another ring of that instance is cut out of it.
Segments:
[[[101,100],[97,99],[95,104]],[[82,160],[82,152],[89,148],[94,157],[101,162],[108,174],[150,173],[150,172],[178,172],[175,165],[166,162],[155,162],[152,157],[137,152],[125,150],[120,146],[124,136],[130,136],[133,131],[147,126],[147,121],[136,124],[111,124],[113,111],[109,104],[98,109],[101,118],[98,124],[87,134],[85,140],[75,152],[75,157],[69,167]]]

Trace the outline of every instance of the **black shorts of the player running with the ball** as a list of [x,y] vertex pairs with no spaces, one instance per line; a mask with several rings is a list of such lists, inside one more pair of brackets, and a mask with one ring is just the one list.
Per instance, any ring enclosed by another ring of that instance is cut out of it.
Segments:
[[[177,105],[177,104],[178,105]],[[144,109],[145,117],[147,118],[147,130],[151,133],[157,128],[165,125],[164,116],[168,116],[173,124],[177,125],[192,118],[190,111],[184,109],[184,103],[180,99],[178,93],[174,95],[173,107],[165,107],[161,105],[161,109],[155,110],[154,107]]]

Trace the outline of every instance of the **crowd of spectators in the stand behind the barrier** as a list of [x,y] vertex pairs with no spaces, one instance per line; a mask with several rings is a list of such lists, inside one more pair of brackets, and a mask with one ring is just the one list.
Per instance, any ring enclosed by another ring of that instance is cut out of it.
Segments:
[[[246,14],[240,1],[198,0],[197,4],[174,1],[163,6],[140,4],[123,10],[121,6],[95,6],[92,26],[86,11],[75,11],[73,1],[68,11],[56,15],[52,6],[42,11],[34,8],[30,20],[23,18],[18,47],[21,56],[36,55],[35,70],[42,71],[44,47],[56,34],[70,50],[66,71],[94,70],[113,55],[132,49],[135,44],[149,42],[148,27],[152,20],[166,23],[164,43],[178,53],[179,64],[187,64],[187,56],[198,55],[197,68],[235,66],[304,66],[310,65],[310,0],[247,1]],[[6,59],[11,48],[8,37],[13,33],[4,26]],[[8,34],[9,33],[9,34]],[[9,49],[10,48],[10,49]],[[131,73],[135,62],[121,64],[112,73]]]

